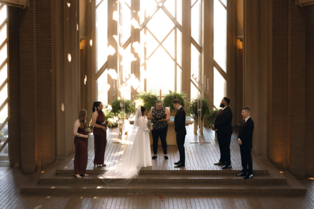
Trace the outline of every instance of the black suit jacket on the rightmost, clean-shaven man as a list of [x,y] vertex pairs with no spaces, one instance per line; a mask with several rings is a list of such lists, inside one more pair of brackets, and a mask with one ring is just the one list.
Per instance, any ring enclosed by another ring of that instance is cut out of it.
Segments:
[[244,125],[242,125],[244,121],[245,120],[243,120],[241,123],[241,130],[239,132],[239,136],[237,136],[236,139],[241,139],[242,146],[249,146],[250,148],[252,148],[254,122],[251,117],[247,119]]

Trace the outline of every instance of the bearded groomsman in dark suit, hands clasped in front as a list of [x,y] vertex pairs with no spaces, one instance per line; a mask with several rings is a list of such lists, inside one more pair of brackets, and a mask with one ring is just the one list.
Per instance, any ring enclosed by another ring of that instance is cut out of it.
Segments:
[[221,110],[217,113],[216,119],[213,122],[211,129],[216,131],[219,150],[220,150],[220,159],[218,163],[214,163],[215,165],[224,165],[222,169],[231,168],[231,157],[230,157],[230,142],[231,136],[233,133],[232,130],[232,111],[229,107],[230,99],[228,97],[224,97],[220,106]]

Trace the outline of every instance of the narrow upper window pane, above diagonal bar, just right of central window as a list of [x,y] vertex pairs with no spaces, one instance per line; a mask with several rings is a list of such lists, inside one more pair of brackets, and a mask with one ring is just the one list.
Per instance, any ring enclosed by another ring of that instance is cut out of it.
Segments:
[[193,39],[201,46],[202,41],[202,8],[201,8],[201,0],[197,1],[196,4],[192,7],[192,15],[191,15],[191,26],[192,26],[192,37]]

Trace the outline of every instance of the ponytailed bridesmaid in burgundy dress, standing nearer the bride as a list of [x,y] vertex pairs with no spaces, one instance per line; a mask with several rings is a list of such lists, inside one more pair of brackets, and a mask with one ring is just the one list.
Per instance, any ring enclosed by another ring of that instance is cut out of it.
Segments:
[[94,147],[95,147],[95,159],[94,166],[101,167],[106,166],[105,161],[105,149],[107,145],[107,127],[102,126],[105,114],[103,112],[103,103],[94,102],[93,104],[93,116],[92,125],[94,126]]

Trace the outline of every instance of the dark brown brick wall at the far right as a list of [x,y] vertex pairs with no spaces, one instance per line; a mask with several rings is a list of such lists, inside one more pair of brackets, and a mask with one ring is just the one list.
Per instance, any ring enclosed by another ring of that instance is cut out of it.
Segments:
[[269,6],[268,158],[302,179],[314,174],[309,163],[314,159],[314,10],[296,6],[295,0],[270,0]]

